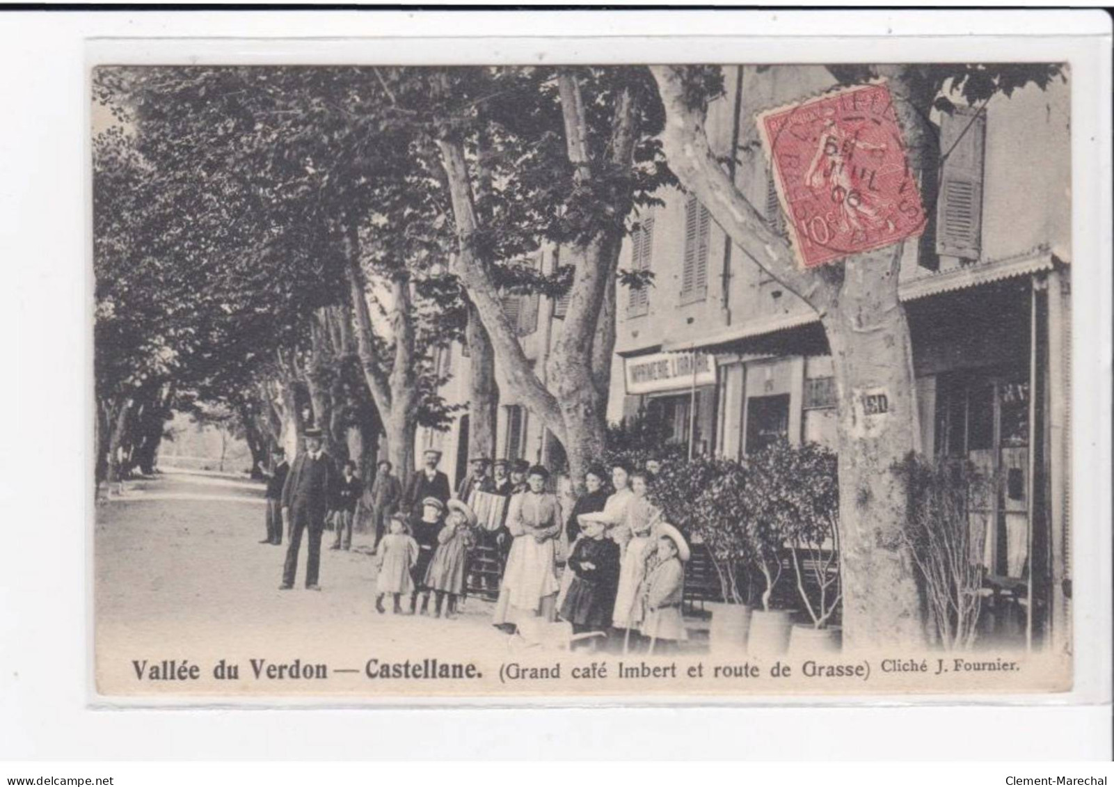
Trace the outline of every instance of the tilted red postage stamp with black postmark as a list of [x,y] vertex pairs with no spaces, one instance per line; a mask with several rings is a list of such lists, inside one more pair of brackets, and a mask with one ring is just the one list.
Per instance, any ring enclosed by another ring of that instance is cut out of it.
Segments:
[[804,268],[880,249],[925,229],[920,191],[885,84],[771,109],[758,120]]

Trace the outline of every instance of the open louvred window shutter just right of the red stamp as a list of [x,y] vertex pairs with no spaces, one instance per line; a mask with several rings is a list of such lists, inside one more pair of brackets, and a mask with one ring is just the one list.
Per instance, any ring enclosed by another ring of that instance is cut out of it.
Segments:
[[986,114],[957,107],[940,119],[944,166],[936,206],[936,252],[978,260],[983,234]]

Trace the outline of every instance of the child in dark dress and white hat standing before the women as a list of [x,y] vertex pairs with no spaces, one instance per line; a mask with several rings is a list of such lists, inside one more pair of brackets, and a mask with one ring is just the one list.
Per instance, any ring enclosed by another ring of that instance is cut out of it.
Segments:
[[[573,583],[568,587],[560,616],[573,624],[573,633],[607,631],[615,606],[619,577],[619,545],[605,537],[607,522],[599,513],[579,516],[580,537],[568,557]],[[595,650],[596,641],[588,640]]]

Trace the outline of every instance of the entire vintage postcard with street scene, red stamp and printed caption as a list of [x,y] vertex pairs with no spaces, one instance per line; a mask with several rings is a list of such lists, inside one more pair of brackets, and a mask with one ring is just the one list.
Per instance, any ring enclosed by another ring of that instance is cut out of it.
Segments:
[[1072,689],[1068,64],[647,62],[90,68],[97,696]]

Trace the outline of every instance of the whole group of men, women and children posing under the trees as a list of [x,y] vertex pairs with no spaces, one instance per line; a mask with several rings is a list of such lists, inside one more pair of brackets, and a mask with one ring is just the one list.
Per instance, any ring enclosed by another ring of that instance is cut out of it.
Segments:
[[[440,459],[440,451],[426,450],[404,488],[389,461],[379,464],[369,495],[378,612],[387,612],[389,600],[397,614],[453,618],[468,586],[470,555],[482,547],[498,555],[492,623],[504,631],[515,631],[525,618],[559,618],[593,649],[602,639],[596,634],[613,648],[655,652],[685,639],[681,604],[690,548],[647,497],[656,463],[638,470],[623,463],[590,468],[586,492],[564,518],[541,465],[472,457],[468,475],[452,489],[438,469]],[[505,502],[496,509],[501,513],[483,522],[475,507],[481,493]],[[280,590],[293,587],[303,533],[309,535],[305,586],[320,590],[325,521],[331,517],[335,528],[332,548],[351,548],[362,495],[355,465],[345,463],[336,473],[317,430],[306,430],[305,451],[293,465],[280,455],[267,483],[263,541],[282,543],[286,516],[290,544]]]

